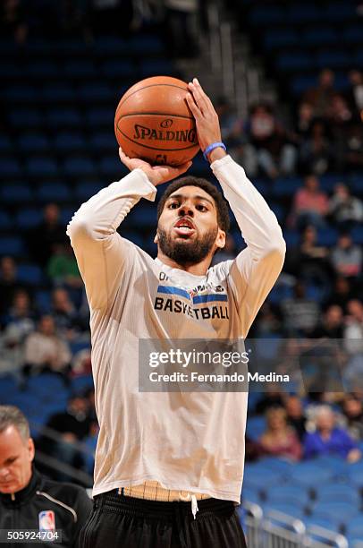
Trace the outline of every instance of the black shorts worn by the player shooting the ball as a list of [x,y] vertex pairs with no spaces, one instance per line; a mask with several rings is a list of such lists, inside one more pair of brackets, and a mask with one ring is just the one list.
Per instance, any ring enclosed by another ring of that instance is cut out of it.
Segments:
[[95,497],[94,509],[80,531],[79,548],[246,548],[232,501],[144,501],[118,494]]

